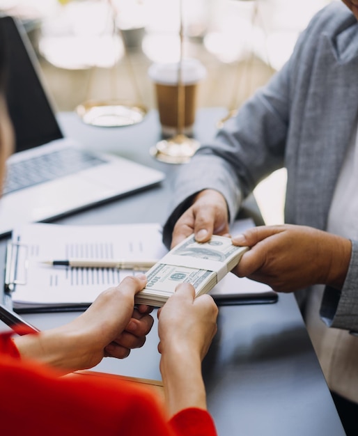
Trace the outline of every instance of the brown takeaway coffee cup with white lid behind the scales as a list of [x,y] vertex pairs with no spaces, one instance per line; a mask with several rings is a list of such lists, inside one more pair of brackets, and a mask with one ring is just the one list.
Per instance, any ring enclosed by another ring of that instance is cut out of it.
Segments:
[[205,67],[197,59],[183,59],[181,63],[181,83],[184,86],[185,102],[182,120],[178,119],[178,78],[179,64],[153,63],[148,70],[150,79],[155,84],[157,109],[162,126],[163,137],[173,137],[182,127],[183,134],[192,135],[196,114],[196,93],[199,82],[205,77]]

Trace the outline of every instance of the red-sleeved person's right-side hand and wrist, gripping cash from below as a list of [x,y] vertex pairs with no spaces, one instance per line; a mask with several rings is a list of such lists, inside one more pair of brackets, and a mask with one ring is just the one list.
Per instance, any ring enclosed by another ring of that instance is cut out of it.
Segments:
[[158,311],[160,371],[171,414],[186,407],[206,408],[201,361],[217,332],[217,313],[212,297],[195,298],[189,283],[180,284]]

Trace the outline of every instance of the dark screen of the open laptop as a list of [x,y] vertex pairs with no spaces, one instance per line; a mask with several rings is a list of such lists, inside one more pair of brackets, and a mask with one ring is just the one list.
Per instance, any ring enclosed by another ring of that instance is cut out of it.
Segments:
[[15,129],[15,150],[61,139],[63,134],[40,83],[36,54],[22,24],[1,16],[0,30],[8,49],[6,99]]

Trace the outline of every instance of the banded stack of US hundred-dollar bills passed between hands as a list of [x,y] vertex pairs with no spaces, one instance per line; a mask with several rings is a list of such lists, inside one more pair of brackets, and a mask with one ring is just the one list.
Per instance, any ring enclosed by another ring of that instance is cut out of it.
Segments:
[[231,238],[213,235],[196,242],[190,235],[146,272],[147,284],[136,295],[136,304],[161,307],[179,283],[191,283],[196,297],[208,293],[233,267],[248,247],[235,247]]

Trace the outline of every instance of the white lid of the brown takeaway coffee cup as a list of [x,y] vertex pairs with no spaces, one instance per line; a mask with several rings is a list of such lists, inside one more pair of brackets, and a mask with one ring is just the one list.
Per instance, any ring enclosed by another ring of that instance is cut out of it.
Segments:
[[[204,65],[198,59],[182,59],[182,83],[195,84],[206,75]],[[178,83],[179,63],[153,63],[150,65],[148,75],[158,84],[174,85]]]

